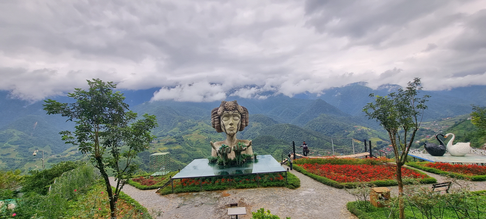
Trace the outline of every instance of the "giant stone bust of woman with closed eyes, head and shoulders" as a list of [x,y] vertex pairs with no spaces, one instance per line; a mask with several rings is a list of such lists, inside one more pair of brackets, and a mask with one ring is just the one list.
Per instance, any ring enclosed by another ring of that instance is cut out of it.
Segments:
[[[248,110],[234,101],[221,101],[218,108],[211,110],[211,125],[217,132],[225,132],[226,140],[210,142],[211,156],[225,160],[234,159],[238,154],[253,155],[251,141],[236,138],[236,132],[248,126]],[[228,147],[222,147],[228,146]]]

